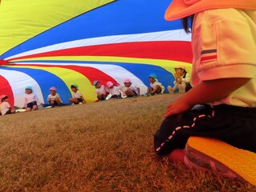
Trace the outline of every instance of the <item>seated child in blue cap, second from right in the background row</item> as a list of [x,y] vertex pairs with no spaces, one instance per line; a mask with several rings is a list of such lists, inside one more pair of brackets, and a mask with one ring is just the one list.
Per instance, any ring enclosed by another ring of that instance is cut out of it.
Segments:
[[158,82],[156,74],[149,74],[148,81],[150,82],[150,86],[147,90],[148,95],[164,93],[165,86],[163,86],[161,82]]

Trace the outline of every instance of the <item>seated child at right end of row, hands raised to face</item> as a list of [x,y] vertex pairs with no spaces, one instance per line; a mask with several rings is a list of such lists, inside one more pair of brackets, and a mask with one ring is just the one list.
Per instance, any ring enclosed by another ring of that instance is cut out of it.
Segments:
[[192,88],[190,85],[190,75],[185,70],[184,66],[175,66],[175,74],[174,74],[174,86],[168,86],[167,89],[169,90],[169,94],[173,94],[175,90],[179,90],[179,93],[185,93]]

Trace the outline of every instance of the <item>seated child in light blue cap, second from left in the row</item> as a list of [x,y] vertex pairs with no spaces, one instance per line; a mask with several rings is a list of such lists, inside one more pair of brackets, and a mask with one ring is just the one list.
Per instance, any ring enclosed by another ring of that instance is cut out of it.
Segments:
[[26,109],[26,111],[38,110],[38,104],[43,106],[43,103],[39,101],[38,96],[36,96],[36,94],[33,93],[32,87],[26,86],[25,102],[22,108]]

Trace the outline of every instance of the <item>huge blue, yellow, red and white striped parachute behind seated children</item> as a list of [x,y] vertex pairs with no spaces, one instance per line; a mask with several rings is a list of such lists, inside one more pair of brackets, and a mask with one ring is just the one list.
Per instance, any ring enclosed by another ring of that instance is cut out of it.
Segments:
[[147,90],[148,74],[173,85],[174,66],[190,72],[190,36],[181,21],[166,22],[169,0],[2,0],[0,94],[23,105],[25,86],[47,103],[51,86],[63,102],[76,83],[87,102],[96,79]]

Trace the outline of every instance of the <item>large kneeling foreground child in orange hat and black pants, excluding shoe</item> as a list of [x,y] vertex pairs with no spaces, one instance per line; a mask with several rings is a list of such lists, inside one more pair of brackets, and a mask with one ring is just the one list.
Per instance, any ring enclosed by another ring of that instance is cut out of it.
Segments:
[[173,0],[165,18],[192,23],[193,88],[169,104],[156,154],[187,162],[190,136],[256,152],[255,10],[255,0]]

